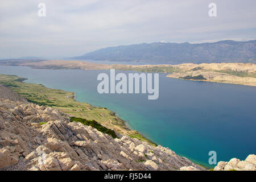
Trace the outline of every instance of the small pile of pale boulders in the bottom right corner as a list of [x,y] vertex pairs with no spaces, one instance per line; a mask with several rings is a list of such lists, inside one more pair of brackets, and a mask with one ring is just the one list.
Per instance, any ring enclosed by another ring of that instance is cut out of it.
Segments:
[[249,155],[245,160],[233,158],[229,162],[218,162],[214,171],[255,171],[256,155]]

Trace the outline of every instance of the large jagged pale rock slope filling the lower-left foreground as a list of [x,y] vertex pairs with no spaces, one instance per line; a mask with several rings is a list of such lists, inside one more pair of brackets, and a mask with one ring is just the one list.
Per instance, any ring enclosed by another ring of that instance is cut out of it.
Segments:
[[0,169],[204,169],[169,148],[120,136],[69,122],[69,115],[50,107],[0,99]]

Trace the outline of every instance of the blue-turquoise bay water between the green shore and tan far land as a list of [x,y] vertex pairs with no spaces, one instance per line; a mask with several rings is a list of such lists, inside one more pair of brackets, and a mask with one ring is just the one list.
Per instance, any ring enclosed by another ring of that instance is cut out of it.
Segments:
[[108,107],[148,139],[207,167],[212,150],[217,161],[256,154],[256,87],[159,74],[159,99],[147,100],[147,94],[98,94],[97,75],[102,72],[109,73],[0,67],[2,74],[72,91],[77,101]]

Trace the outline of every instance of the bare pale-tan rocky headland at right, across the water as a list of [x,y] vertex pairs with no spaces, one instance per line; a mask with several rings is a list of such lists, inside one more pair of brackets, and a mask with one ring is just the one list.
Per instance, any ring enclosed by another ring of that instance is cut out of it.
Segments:
[[[184,78],[187,76],[203,76],[210,82],[227,84],[240,84],[256,86],[256,64],[251,63],[211,63],[211,64],[179,64],[173,65],[179,69],[177,73],[171,73],[167,77]],[[253,76],[254,75],[254,76]]]

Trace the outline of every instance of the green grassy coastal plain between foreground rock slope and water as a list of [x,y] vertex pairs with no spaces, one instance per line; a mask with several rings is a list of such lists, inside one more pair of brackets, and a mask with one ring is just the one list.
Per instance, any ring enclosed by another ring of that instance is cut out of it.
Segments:
[[14,75],[0,75],[1,84],[7,86],[15,93],[20,94],[20,96],[23,96],[29,102],[59,109],[73,117],[95,120],[108,129],[139,140],[144,140],[155,146],[154,143],[144,138],[138,131],[130,130],[121,118],[115,116],[113,111],[105,107],[94,107],[84,102],[77,102],[74,100],[73,92],[46,88],[46,86],[41,84],[29,84],[23,82],[24,80],[26,78],[20,78]]

